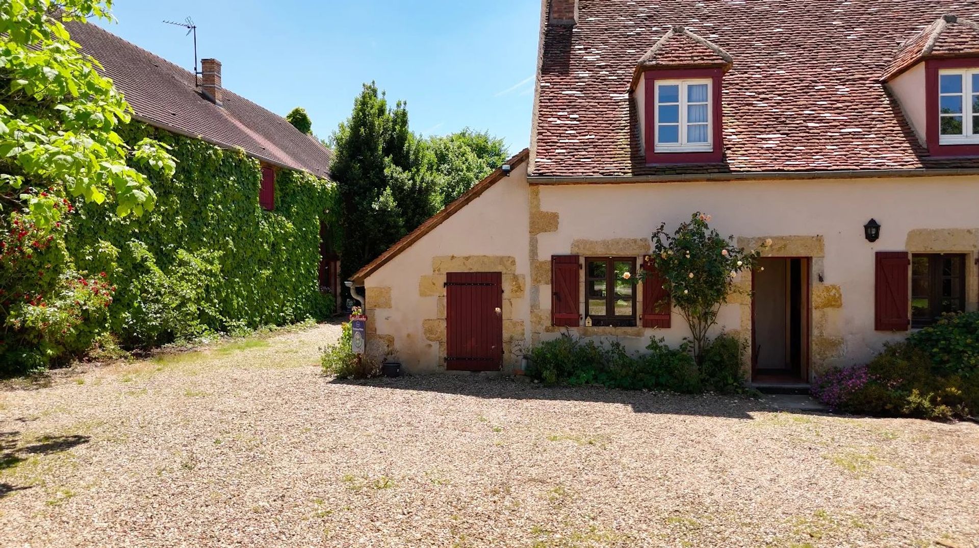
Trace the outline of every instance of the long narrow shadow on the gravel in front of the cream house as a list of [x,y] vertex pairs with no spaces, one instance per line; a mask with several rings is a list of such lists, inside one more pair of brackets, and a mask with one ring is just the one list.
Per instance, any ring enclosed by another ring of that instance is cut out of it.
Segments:
[[[686,415],[753,420],[752,413],[777,411],[761,400],[739,395],[676,394],[616,390],[602,386],[542,386],[518,382],[512,377],[477,374],[412,375],[368,380],[331,380],[331,384],[370,386],[381,389],[442,392],[486,399],[552,400],[628,405],[635,413]],[[820,414],[821,415],[821,414]]]

